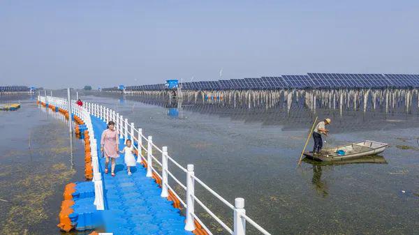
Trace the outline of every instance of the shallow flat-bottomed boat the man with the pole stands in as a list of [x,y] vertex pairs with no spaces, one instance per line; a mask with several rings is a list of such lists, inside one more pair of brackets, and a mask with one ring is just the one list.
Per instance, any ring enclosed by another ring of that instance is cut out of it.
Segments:
[[[313,152],[305,152],[304,156],[310,159],[321,161],[348,160],[382,153],[387,146],[388,144],[385,143],[365,140],[363,142],[346,144],[331,149],[322,149],[318,155],[313,154]],[[337,153],[339,150],[344,151],[345,154],[339,155]]]

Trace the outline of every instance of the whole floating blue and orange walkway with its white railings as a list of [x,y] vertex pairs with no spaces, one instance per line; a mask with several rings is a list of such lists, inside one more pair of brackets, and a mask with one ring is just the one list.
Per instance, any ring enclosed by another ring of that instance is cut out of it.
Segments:
[[[86,159],[89,158],[89,167],[92,169],[92,182],[68,185],[64,193],[64,199],[67,196],[73,197],[73,201],[63,202],[63,205],[68,206],[68,210],[64,210],[67,214],[60,214],[60,218],[71,220],[70,227],[85,230],[103,225],[105,232],[115,235],[212,234],[195,212],[194,208],[198,204],[229,234],[246,234],[248,223],[260,234],[270,235],[246,215],[244,199],[236,198],[235,204],[230,204],[195,176],[193,165],[182,167],[168,155],[166,146],[156,146],[152,136],[145,137],[142,128],[135,128],[134,123],[128,123],[128,119],[124,119],[114,110],[87,102],[80,107],[75,105],[75,100],[67,103],[63,98],[51,96],[38,96],[38,103],[56,112],[63,112],[68,118],[78,121],[84,130],[84,138],[87,138],[85,142],[89,143],[86,144],[85,150],[89,153]],[[66,112],[68,107],[71,107],[71,112]],[[131,170],[131,176],[125,172],[122,156],[116,160],[116,176],[104,173],[105,158],[101,158],[100,141],[108,121],[115,122],[115,128],[120,134],[119,150],[122,150],[127,139],[133,142],[138,165]],[[157,170],[155,164],[159,165],[161,170]],[[170,168],[176,167],[184,172],[186,185],[170,172],[169,164]],[[177,183],[177,188],[184,190],[186,198],[182,199],[173,190],[175,186],[168,183],[169,178]],[[195,183],[203,186],[206,192],[214,195],[232,210],[232,228],[196,197]],[[185,209],[186,215],[182,215],[180,209]]]

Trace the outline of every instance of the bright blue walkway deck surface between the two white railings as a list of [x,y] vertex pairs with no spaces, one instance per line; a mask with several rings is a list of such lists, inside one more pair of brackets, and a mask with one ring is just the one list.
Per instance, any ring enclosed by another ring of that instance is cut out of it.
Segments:
[[[95,138],[98,142],[98,156],[101,156],[101,134],[106,124],[91,116]],[[120,139],[119,149],[124,147]],[[126,174],[124,155],[116,161],[115,174],[104,174],[105,158],[99,157],[99,167],[104,186],[105,211],[103,219],[106,232],[115,235],[128,234],[193,234],[184,230],[184,216],[172,202],[160,197],[161,190],[154,179],[145,176],[146,169],[141,165],[131,167],[131,176]],[[110,164],[109,164],[110,167]]]

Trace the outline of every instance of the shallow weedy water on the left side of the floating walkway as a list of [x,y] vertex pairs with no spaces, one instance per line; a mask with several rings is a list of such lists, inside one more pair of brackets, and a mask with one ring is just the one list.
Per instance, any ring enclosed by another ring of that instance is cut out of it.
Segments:
[[20,109],[0,112],[0,234],[60,234],[64,186],[83,181],[84,149],[59,114],[30,96],[1,96]]

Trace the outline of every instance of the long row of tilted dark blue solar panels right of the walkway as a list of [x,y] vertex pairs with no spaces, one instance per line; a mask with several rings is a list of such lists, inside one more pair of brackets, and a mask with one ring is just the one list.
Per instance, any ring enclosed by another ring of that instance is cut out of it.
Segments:
[[[180,87],[185,90],[419,88],[419,75],[307,73],[307,75],[183,82]],[[164,89],[166,89],[164,84],[126,86],[128,91]]]

